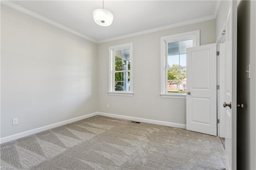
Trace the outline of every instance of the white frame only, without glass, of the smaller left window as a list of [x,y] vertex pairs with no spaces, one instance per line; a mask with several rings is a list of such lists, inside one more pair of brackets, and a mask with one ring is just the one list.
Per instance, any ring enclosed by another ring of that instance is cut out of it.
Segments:
[[[130,49],[130,91],[115,91],[115,51],[121,51]],[[109,95],[119,95],[119,96],[133,96],[133,74],[132,74],[132,66],[133,66],[133,59],[132,59],[132,43],[125,43],[121,45],[115,45],[109,47],[109,84],[108,84],[108,94]]]

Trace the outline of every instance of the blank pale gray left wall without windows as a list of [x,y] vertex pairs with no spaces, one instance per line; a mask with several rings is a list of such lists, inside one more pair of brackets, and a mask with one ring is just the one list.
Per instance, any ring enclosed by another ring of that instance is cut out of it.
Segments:
[[1,138],[96,112],[96,56],[96,43],[1,4]]

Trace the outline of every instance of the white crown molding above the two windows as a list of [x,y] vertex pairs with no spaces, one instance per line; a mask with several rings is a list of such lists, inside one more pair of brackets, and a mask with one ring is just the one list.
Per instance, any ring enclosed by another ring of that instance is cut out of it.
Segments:
[[146,31],[136,32],[136,33],[132,33],[132,34],[127,34],[127,35],[124,35],[124,36],[119,36],[119,37],[115,37],[115,38],[109,38],[109,39],[106,39],[106,40],[100,40],[100,41],[98,41],[98,43],[105,43],[105,42],[111,42],[111,41],[115,41],[115,40],[120,40],[120,39],[123,39],[123,38],[130,38],[130,37],[134,37],[134,36],[140,36],[140,35],[143,35],[143,34],[149,34],[149,33],[152,33],[152,32],[168,30],[170,28],[186,26],[186,25],[195,24],[195,23],[198,23],[198,22],[204,22],[204,21],[208,21],[208,20],[214,20],[214,19],[216,19],[215,15],[206,16],[206,17],[195,19],[195,20],[189,20],[189,21],[180,22],[180,23],[177,23],[177,24],[171,24],[171,25],[168,25],[168,26],[163,26],[163,27],[158,27],[158,28],[146,30]]

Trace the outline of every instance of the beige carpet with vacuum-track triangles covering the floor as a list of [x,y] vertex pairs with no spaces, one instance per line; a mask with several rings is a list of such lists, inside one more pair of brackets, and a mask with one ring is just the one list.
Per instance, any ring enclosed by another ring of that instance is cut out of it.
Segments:
[[225,168],[219,137],[104,116],[1,144],[0,165],[33,170]]

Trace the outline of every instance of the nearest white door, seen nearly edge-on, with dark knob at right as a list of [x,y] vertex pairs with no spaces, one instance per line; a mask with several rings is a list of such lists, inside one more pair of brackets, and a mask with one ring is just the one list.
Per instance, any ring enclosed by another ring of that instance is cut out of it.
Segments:
[[[232,2],[225,34],[225,163],[226,170],[236,169],[236,42],[237,4]],[[230,106],[231,105],[231,106]]]

